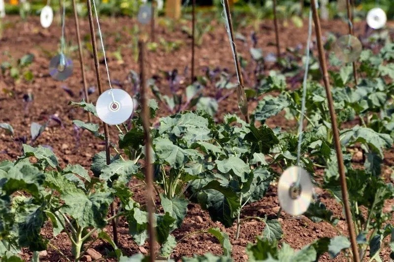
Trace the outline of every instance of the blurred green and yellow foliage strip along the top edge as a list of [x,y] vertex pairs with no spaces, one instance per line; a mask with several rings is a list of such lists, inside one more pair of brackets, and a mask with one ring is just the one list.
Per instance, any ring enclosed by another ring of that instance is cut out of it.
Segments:
[[[149,0],[150,1],[150,0]],[[340,3],[338,1],[344,0],[320,0],[320,2],[328,2],[330,18],[343,17],[345,12],[338,10]],[[7,14],[21,14],[39,15],[41,8],[46,4],[47,0],[5,0]],[[182,0],[182,7],[184,12],[190,12],[191,0]],[[221,0],[196,0],[198,10],[221,12]],[[233,12],[237,15],[248,15],[252,13],[259,19],[272,18],[272,0],[233,0]],[[363,19],[366,12],[373,7],[381,7],[386,11],[389,19],[394,18],[394,0],[354,0],[355,2],[355,16]],[[96,0],[101,15],[109,16],[135,16],[138,12],[138,7],[143,3],[143,0]],[[309,0],[277,0],[278,14],[280,18],[291,18],[307,13],[307,7],[310,5]],[[165,0],[164,0],[165,5]],[[54,10],[59,9],[59,1],[51,1],[51,6]],[[86,1],[77,0],[78,13],[80,16],[86,16]],[[70,13],[72,10],[71,0],[66,0],[66,12]],[[301,12],[302,9],[302,12]],[[163,15],[164,10],[159,11]]]

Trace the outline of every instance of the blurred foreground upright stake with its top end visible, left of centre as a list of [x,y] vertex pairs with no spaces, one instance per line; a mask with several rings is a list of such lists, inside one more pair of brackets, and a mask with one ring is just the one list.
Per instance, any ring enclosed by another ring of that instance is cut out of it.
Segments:
[[149,122],[149,107],[148,107],[148,94],[145,83],[145,70],[144,70],[144,52],[145,42],[138,41],[139,49],[139,80],[141,88],[141,107],[142,107],[142,126],[145,132],[145,183],[146,183],[146,207],[148,209],[148,233],[149,233],[149,249],[150,249],[150,262],[155,262],[155,248],[156,248],[156,233],[154,228],[153,217],[153,167],[151,164],[151,138],[150,138],[150,122]]

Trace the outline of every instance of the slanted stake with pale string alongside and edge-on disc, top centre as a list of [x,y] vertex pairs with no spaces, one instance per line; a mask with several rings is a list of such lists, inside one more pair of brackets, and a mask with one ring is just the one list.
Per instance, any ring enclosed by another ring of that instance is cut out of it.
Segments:
[[245,95],[245,88],[244,88],[244,82],[243,82],[243,77],[242,77],[241,64],[239,63],[237,49],[236,49],[235,43],[233,41],[234,32],[232,29],[229,0],[224,0],[224,5],[225,5],[225,11],[226,11],[226,18],[227,18],[226,22],[227,22],[228,29],[229,29],[229,40],[230,40],[230,45],[231,45],[231,49],[232,49],[233,56],[234,56],[235,70],[237,72],[237,78],[238,78],[238,87],[237,87],[238,105],[239,105],[239,109],[241,110],[241,113],[245,116],[245,121],[247,123],[249,123],[250,118],[249,118],[249,113],[248,113],[248,101],[247,101],[246,95]]

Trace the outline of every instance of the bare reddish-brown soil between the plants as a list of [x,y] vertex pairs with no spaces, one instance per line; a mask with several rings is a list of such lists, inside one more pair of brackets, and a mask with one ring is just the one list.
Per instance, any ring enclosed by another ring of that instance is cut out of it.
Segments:
[[[73,75],[65,82],[56,82],[51,79],[48,74],[48,64],[51,56],[56,54],[60,37],[59,24],[54,23],[49,29],[41,29],[38,18],[29,18],[28,22],[19,22],[18,17],[7,17],[7,21],[10,21],[10,27],[5,29],[3,38],[0,40],[0,60],[4,61],[6,57],[2,54],[4,51],[8,51],[12,57],[20,58],[22,55],[30,52],[34,54],[35,59],[31,66],[33,70],[34,80],[33,83],[26,83],[21,81],[15,83],[12,78],[7,75],[4,78],[0,76],[0,89],[6,88],[14,92],[14,97],[10,97],[5,93],[0,93],[0,122],[8,122],[15,129],[15,137],[30,136],[30,123],[39,122],[42,123],[52,114],[58,114],[63,120],[64,127],[58,125],[52,125],[47,128],[44,134],[38,139],[36,145],[49,145],[54,149],[55,154],[59,157],[62,166],[67,163],[80,164],[86,168],[90,166],[91,157],[103,150],[104,146],[99,144],[98,140],[92,135],[84,132],[81,135],[79,147],[75,148],[74,131],[71,124],[73,119],[85,119],[86,115],[83,115],[81,111],[71,109],[67,106],[68,101],[78,101],[78,97],[70,97],[64,92],[61,87],[67,86],[74,93],[78,94],[82,88],[81,84],[81,73],[78,62],[77,52],[73,52],[71,57],[74,61],[74,72]],[[138,65],[133,59],[131,52],[131,33],[129,33],[135,21],[128,18],[103,18],[101,28],[103,29],[105,42],[107,46],[107,53],[109,54],[108,65],[112,79],[117,79],[121,82],[126,81],[129,70],[138,71]],[[214,23],[214,22],[212,22]],[[76,45],[74,23],[73,20],[67,18],[66,20],[66,38],[72,42],[72,45]],[[271,21],[265,21],[261,31],[258,32],[259,43],[258,47],[263,48],[264,54],[268,52],[275,52],[275,47],[270,43],[275,42],[273,26]],[[305,22],[306,25],[306,22]],[[89,34],[89,25],[87,19],[80,21],[82,37]],[[180,27],[180,26],[179,26]],[[324,32],[331,31],[336,33],[345,33],[347,25],[341,21],[329,21],[323,22],[322,27]],[[363,24],[356,24],[356,33],[361,33]],[[149,31],[148,29],[144,29]],[[251,29],[242,29],[241,32],[248,38]],[[180,39],[183,41],[183,45],[178,51],[171,54],[166,54],[163,51],[157,53],[148,54],[148,65],[147,74],[150,77],[153,74],[157,74],[159,70],[172,70],[178,68],[180,72],[183,71],[186,65],[190,63],[190,42],[185,34],[183,34],[178,27],[175,27],[174,32],[170,32],[163,27],[156,29],[156,39],[164,37],[167,40]],[[297,44],[305,45],[306,41],[306,27],[295,28],[290,25],[288,27],[281,27],[281,50],[285,52],[284,47],[295,47]],[[120,39],[116,40],[117,36],[121,36]],[[89,40],[88,40],[89,41]],[[119,63],[112,55],[112,52],[117,51],[118,47],[121,46],[121,52],[124,63]],[[239,53],[249,58],[249,44],[242,44],[237,41],[237,48]],[[45,51],[45,52],[44,52]],[[48,54],[49,53],[49,54]],[[87,64],[87,80],[89,85],[96,86],[94,63],[90,54],[86,51],[85,60]],[[196,74],[201,74],[203,66],[220,66],[227,67],[230,72],[233,70],[233,60],[230,51],[230,45],[227,38],[227,34],[223,28],[223,25],[216,26],[215,30],[204,36],[204,42],[201,47],[197,47],[196,50]],[[253,62],[248,65],[249,71],[253,68]],[[104,66],[101,66],[101,76],[103,83],[105,81]],[[248,76],[253,80],[252,75]],[[189,82],[186,79],[185,82]],[[24,111],[24,104],[22,97],[27,92],[27,89],[31,88],[34,94],[34,102],[29,106],[27,112]],[[104,88],[107,85],[104,84]],[[212,87],[208,87],[207,92],[213,92]],[[91,99],[96,100],[97,92],[92,95]],[[252,109],[256,106],[256,102],[252,103]],[[252,110],[251,109],[251,110]],[[225,113],[238,114],[238,108],[236,103],[235,93],[230,97],[222,101],[219,106],[219,113],[217,117],[220,119]],[[162,107],[159,111],[159,116],[168,114],[165,108]],[[273,117],[267,121],[267,124],[271,127],[282,126],[285,129],[292,128],[295,122],[286,121],[284,117]],[[110,129],[112,140],[115,141],[116,130]],[[15,159],[21,154],[21,146],[17,142],[14,142],[11,138],[0,134],[0,151],[5,150],[5,153],[0,153],[0,160],[4,159]],[[391,149],[386,153],[385,164],[392,166],[394,163],[394,150]],[[390,176],[390,169],[388,169],[387,175]],[[390,178],[388,178],[390,179]],[[136,189],[135,199],[137,201],[143,201],[144,192],[141,189]],[[321,200],[328,205],[328,208],[335,212],[335,215],[341,218],[339,222],[340,228],[343,232],[346,232],[346,224],[342,215],[341,207],[335,203],[334,200],[328,197],[328,194],[321,193]],[[388,207],[393,202],[388,203]],[[276,187],[271,186],[267,195],[259,202],[245,206],[243,216],[255,215],[261,216],[268,215],[268,217],[274,217],[275,211],[278,209],[278,199],[276,195]],[[324,236],[334,236],[335,230],[328,223],[313,223],[305,217],[294,219],[291,216],[282,212],[280,218],[281,224],[284,231],[283,242],[289,243],[293,248],[299,249],[302,246],[312,242],[314,239]],[[201,222],[202,221],[202,222]],[[209,218],[209,215],[204,210],[201,210],[198,204],[190,204],[188,214],[183,222],[180,229],[174,232],[177,239],[180,239],[183,235],[199,230],[207,229],[209,227],[220,227],[222,230],[230,234],[232,242],[232,257],[235,261],[246,261],[245,246],[249,242],[253,242],[257,235],[260,235],[263,231],[264,225],[262,222],[250,221],[244,223],[241,226],[240,239],[235,240],[235,225],[228,229],[225,229],[220,223],[214,223]],[[108,233],[111,233],[112,229],[110,226],[106,228]],[[123,252],[127,255],[132,255],[140,252],[138,246],[133,243],[131,236],[128,234],[128,227],[124,221],[121,221],[118,227],[120,233],[119,246]],[[42,234],[48,238],[52,237],[51,226],[46,225],[43,229]],[[56,238],[51,240],[51,243],[59,247],[62,252],[67,256],[71,257],[70,243],[67,240],[65,233],[60,234]],[[146,249],[147,246],[144,246]],[[105,254],[105,248],[108,248],[108,244],[98,241],[93,248],[99,251],[101,254]],[[173,257],[178,260],[182,256],[193,256],[194,254],[203,254],[205,252],[211,252],[214,254],[221,254],[222,249],[218,242],[209,235],[199,234],[192,237],[186,238],[182,242],[179,242]],[[24,249],[22,254],[24,259],[31,257],[31,252]],[[389,252],[385,250],[383,253],[383,260],[389,261]],[[53,249],[49,249],[46,256],[40,258],[41,261],[64,261],[59,254]],[[329,261],[329,257],[323,256],[320,261]],[[344,261],[344,258],[339,256],[335,261]]]

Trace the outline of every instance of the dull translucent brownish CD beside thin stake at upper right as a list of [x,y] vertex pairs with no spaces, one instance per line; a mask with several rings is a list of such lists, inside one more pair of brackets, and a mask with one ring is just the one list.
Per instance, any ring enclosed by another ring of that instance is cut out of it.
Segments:
[[354,62],[361,55],[362,45],[357,37],[350,34],[342,35],[336,40],[333,51],[342,62]]

